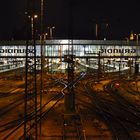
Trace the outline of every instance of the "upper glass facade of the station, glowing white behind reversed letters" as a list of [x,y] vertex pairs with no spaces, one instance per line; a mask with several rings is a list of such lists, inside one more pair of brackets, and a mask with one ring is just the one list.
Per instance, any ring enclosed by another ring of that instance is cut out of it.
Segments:
[[[80,40],[79,40],[80,42]],[[94,42],[73,43],[69,44],[66,40],[59,40],[57,42],[53,41],[51,43],[45,42],[45,56],[63,56],[69,53],[79,57],[79,56],[94,56],[95,54],[100,54],[102,56],[136,56],[139,55],[139,46],[136,45],[126,45],[126,44],[95,44]],[[99,42],[100,43],[100,42]],[[29,46],[30,48],[30,46]],[[30,50],[29,50],[30,51]],[[36,44],[37,56],[40,56],[40,44]],[[13,45],[12,42],[7,45],[0,44],[0,56],[25,56],[26,55],[26,44]]]

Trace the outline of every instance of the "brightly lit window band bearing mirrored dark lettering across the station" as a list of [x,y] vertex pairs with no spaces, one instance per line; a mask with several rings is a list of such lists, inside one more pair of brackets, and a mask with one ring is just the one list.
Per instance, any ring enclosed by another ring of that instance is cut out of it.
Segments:
[[[45,56],[64,56],[74,54],[75,56],[98,56],[99,52],[102,56],[130,56],[139,54],[139,49],[136,46],[112,46],[112,45],[73,45],[69,49],[64,45],[46,45],[44,46]],[[36,55],[41,55],[40,45],[35,47]],[[0,46],[0,56],[25,56],[26,52],[30,55],[34,53],[33,46]]]

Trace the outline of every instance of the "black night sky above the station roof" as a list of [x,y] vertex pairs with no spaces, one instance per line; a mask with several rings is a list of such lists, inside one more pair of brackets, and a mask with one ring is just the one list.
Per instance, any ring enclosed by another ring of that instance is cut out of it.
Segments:
[[[39,0],[30,0],[32,3]],[[139,4],[135,0],[44,0],[44,26],[55,26],[54,38],[124,39],[131,30],[140,32]],[[0,4],[0,40],[22,39],[26,0],[3,0]],[[39,10],[38,10],[39,11]],[[107,26],[106,26],[107,25]],[[39,27],[38,27],[39,28]],[[39,29],[38,29],[39,30]]]

